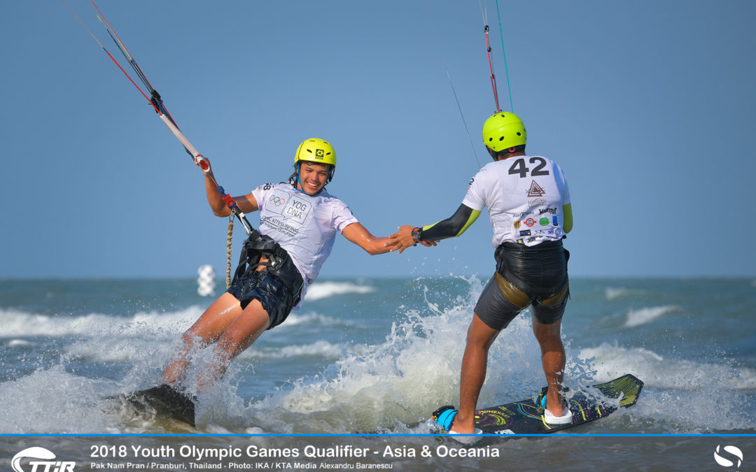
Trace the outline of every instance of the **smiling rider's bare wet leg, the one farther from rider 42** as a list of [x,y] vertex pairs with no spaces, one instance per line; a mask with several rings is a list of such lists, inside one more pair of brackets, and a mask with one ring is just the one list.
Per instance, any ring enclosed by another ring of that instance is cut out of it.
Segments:
[[180,382],[189,365],[191,353],[218,340],[241,313],[239,301],[229,293],[224,293],[212,302],[200,319],[181,336],[181,347],[163,372],[163,380],[169,384]]

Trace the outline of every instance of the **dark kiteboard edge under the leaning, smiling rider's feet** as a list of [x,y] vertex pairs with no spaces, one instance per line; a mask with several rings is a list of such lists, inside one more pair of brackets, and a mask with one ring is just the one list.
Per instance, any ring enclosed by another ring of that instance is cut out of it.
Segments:
[[128,403],[138,412],[195,426],[194,401],[170,385],[163,384],[112,398]]

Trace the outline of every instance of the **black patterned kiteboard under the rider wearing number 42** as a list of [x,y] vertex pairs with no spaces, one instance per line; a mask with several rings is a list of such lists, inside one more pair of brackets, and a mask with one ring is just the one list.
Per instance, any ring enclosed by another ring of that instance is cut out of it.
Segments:
[[[484,434],[554,433],[603,418],[620,407],[633,406],[642,389],[643,381],[634,375],[625,374],[612,381],[576,391],[572,396],[568,393],[565,396],[569,397],[567,401],[572,411],[572,423],[569,424],[547,424],[544,421],[544,409],[538,405],[538,398],[479,409],[476,411],[475,423]],[[446,408],[448,407],[442,406],[434,412],[434,416]]]

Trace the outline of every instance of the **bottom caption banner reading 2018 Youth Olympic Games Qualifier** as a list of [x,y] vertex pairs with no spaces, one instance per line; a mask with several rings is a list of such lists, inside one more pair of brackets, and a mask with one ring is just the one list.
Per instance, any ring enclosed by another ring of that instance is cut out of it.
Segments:
[[4,435],[0,470],[756,470],[756,435]]

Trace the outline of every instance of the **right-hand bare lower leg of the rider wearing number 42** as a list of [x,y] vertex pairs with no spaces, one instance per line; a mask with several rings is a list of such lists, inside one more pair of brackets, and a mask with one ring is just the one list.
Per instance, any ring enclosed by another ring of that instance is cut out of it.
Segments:
[[541,345],[541,362],[544,366],[544,374],[549,385],[546,393],[546,407],[555,416],[565,413],[565,401],[560,391],[564,381],[565,371],[565,347],[562,344],[562,320],[544,325],[532,319],[533,334]]

